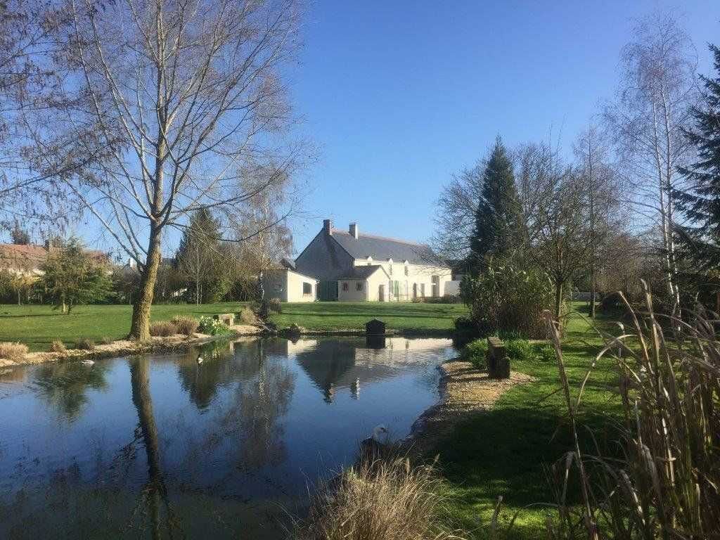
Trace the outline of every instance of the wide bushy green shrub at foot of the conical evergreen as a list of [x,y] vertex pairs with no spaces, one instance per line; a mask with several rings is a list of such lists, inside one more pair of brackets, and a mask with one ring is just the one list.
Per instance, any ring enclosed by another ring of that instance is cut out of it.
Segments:
[[477,278],[464,276],[460,292],[480,336],[546,337],[542,312],[554,305],[554,289],[544,272],[490,261]]

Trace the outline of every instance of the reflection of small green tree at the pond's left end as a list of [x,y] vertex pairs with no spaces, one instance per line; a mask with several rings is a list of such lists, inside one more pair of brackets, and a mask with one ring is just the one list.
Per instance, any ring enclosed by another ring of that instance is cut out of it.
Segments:
[[51,408],[73,421],[88,405],[89,390],[107,388],[106,371],[107,368],[98,363],[93,366],[81,362],[42,364],[32,382]]

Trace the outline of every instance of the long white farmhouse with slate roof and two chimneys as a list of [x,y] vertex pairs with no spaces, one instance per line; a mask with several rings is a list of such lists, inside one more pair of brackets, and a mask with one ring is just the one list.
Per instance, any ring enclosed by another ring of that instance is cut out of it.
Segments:
[[[300,287],[293,274],[302,282],[300,300],[310,300],[304,293],[312,279],[317,281],[312,300],[392,302],[451,294],[451,269],[428,246],[360,233],[356,223],[338,230],[324,220],[323,229],[287,266],[286,286],[273,276],[278,290],[268,287],[271,297],[298,301]],[[283,288],[292,288],[289,296],[279,290]]]

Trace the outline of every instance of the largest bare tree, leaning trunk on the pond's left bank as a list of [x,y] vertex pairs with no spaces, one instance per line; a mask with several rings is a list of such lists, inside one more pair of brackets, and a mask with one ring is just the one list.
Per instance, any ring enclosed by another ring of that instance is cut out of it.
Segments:
[[[284,176],[290,109],[279,68],[297,50],[294,0],[66,0],[61,48],[76,99],[57,114],[95,160],[62,180],[140,269],[130,337],[149,338],[161,239],[189,212],[224,214]],[[256,192],[243,170],[273,164]],[[48,162],[48,166],[53,163]]]

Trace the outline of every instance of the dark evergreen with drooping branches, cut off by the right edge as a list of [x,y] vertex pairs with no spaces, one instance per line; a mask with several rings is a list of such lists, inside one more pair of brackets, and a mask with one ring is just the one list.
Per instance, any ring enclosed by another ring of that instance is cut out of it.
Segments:
[[701,76],[706,92],[703,104],[693,107],[695,128],[685,130],[698,161],[678,170],[690,189],[675,192],[678,207],[693,222],[683,229],[685,250],[702,269],[720,265],[720,48],[710,45],[718,78]]

